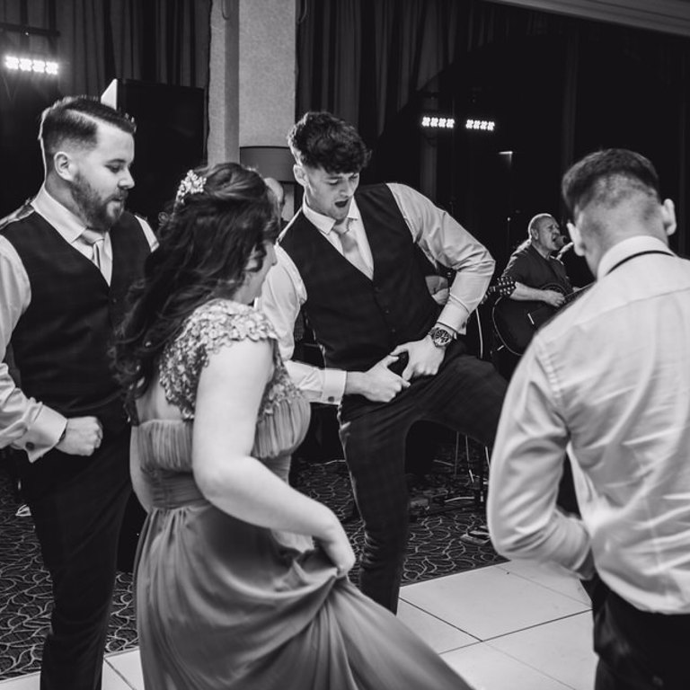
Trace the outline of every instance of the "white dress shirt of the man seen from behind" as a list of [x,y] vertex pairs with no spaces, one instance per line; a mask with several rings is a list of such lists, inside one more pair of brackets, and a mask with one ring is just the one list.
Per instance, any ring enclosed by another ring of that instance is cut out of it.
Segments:
[[[593,557],[632,606],[690,613],[689,359],[690,261],[650,236],[616,244],[510,382],[488,499],[500,553],[584,577]],[[566,450],[581,520],[555,508]]]

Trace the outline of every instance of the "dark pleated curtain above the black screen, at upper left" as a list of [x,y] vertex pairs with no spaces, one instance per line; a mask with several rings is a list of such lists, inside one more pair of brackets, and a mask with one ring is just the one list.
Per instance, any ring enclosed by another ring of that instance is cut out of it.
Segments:
[[0,0],[0,22],[57,31],[22,48],[54,53],[61,93],[99,95],[115,77],[206,88],[210,9],[211,0]]

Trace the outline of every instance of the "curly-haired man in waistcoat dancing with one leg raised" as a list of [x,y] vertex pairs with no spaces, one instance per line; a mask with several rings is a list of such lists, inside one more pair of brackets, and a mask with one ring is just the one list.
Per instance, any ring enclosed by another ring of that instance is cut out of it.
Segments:
[[[280,236],[261,306],[307,398],[340,405],[341,442],[365,528],[360,588],[395,612],[409,528],[404,462],[412,424],[437,422],[493,442],[505,382],[467,353],[464,331],[494,261],[410,187],[358,188],[370,154],[349,123],[307,112],[288,144],[304,202]],[[445,305],[430,296],[415,245],[456,271]],[[324,368],[289,361],[300,309]]]

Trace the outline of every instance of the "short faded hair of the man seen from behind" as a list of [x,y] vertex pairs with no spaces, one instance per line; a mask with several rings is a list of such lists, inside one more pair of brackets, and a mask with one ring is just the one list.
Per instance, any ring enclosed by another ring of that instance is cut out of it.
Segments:
[[595,202],[613,208],[633,194],[659,202],[659,175],[643,155],[608,148],[586,155],[563,175],[563,200],[573,217],[575,208]]

